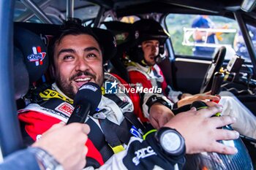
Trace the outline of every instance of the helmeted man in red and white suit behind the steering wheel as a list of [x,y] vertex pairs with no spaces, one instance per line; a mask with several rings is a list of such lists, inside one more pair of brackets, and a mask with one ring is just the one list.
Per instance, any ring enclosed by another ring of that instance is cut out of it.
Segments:
[[[188,93],[181,93],[181,91],[172,90],[170,85],[165,82],[165,77],[161,69],[157,65],[157,61],[161,61],[164,51],[165,40],[169,37],[162,26],[154,20],[138,20],[133,23],[133,31],[137,38],[137,45],[133,47],[130,54],[132,62],[127,66],[129,72],[129,79],[132,84],[138,84],[143,88],[158,87],[162,88],[162,93],[170,98],[174,108],[182,107],[186,104],[191,104],[198,100],[213,100],[219,101],[223,106],[224,115],[232,115],[237,118],[237,123],[232,127],[239,133],[256,139],[256,117],[247,109],[244,104],[241,104],[238,99],[231,93],[221,93],[222,98],[212,96],[209,93],[190,95]],[[147,110],[146,105],[143,105],[143,113],[148,117],[154,128],[161,127],[173,115],[148,115],[145,114]],[[157,117],[157,118],[156,118]],[[161,117],[162,120],[161,121]],[[160,118],[160,119],[159,119]],[[156,121],[157,120],[157,121]]]

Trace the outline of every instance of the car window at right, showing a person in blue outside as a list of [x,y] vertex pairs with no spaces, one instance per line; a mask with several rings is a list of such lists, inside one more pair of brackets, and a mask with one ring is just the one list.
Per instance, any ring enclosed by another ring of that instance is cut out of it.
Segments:
[[213,58],[221,46],[227,47],[225,59],[236,53],[234,41],[240,32],[236,20],[210,15],[169,14],[165,23],[175,55]]

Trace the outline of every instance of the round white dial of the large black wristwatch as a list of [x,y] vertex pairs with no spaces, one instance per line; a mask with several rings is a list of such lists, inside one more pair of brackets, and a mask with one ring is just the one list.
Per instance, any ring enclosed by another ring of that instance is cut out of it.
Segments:
[[165,131],[161,136],[161,146],[167,152],[175,152],[181,147],[181,138],[173,131]]

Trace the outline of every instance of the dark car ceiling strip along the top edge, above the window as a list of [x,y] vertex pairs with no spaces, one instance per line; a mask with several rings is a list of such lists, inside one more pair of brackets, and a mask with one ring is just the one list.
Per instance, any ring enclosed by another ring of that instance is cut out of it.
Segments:
[[[106,9],[114,9],[119,16],[146,12],[210,12],[223,14],[240,10],[243,0],[90,0]],[[254,10],[254,12],[256,12]],[[254,13],[253,12],[253,13]]]

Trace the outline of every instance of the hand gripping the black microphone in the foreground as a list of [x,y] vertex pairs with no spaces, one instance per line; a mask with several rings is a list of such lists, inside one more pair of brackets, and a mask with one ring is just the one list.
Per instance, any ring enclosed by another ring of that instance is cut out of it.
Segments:
[[61,122],[42,134],[32,147],[40,147],[49,152],[66,170],[83,169],[86,165],[88,148],[85,143],[89,131],[89,125],[86,124],[65,125]]

